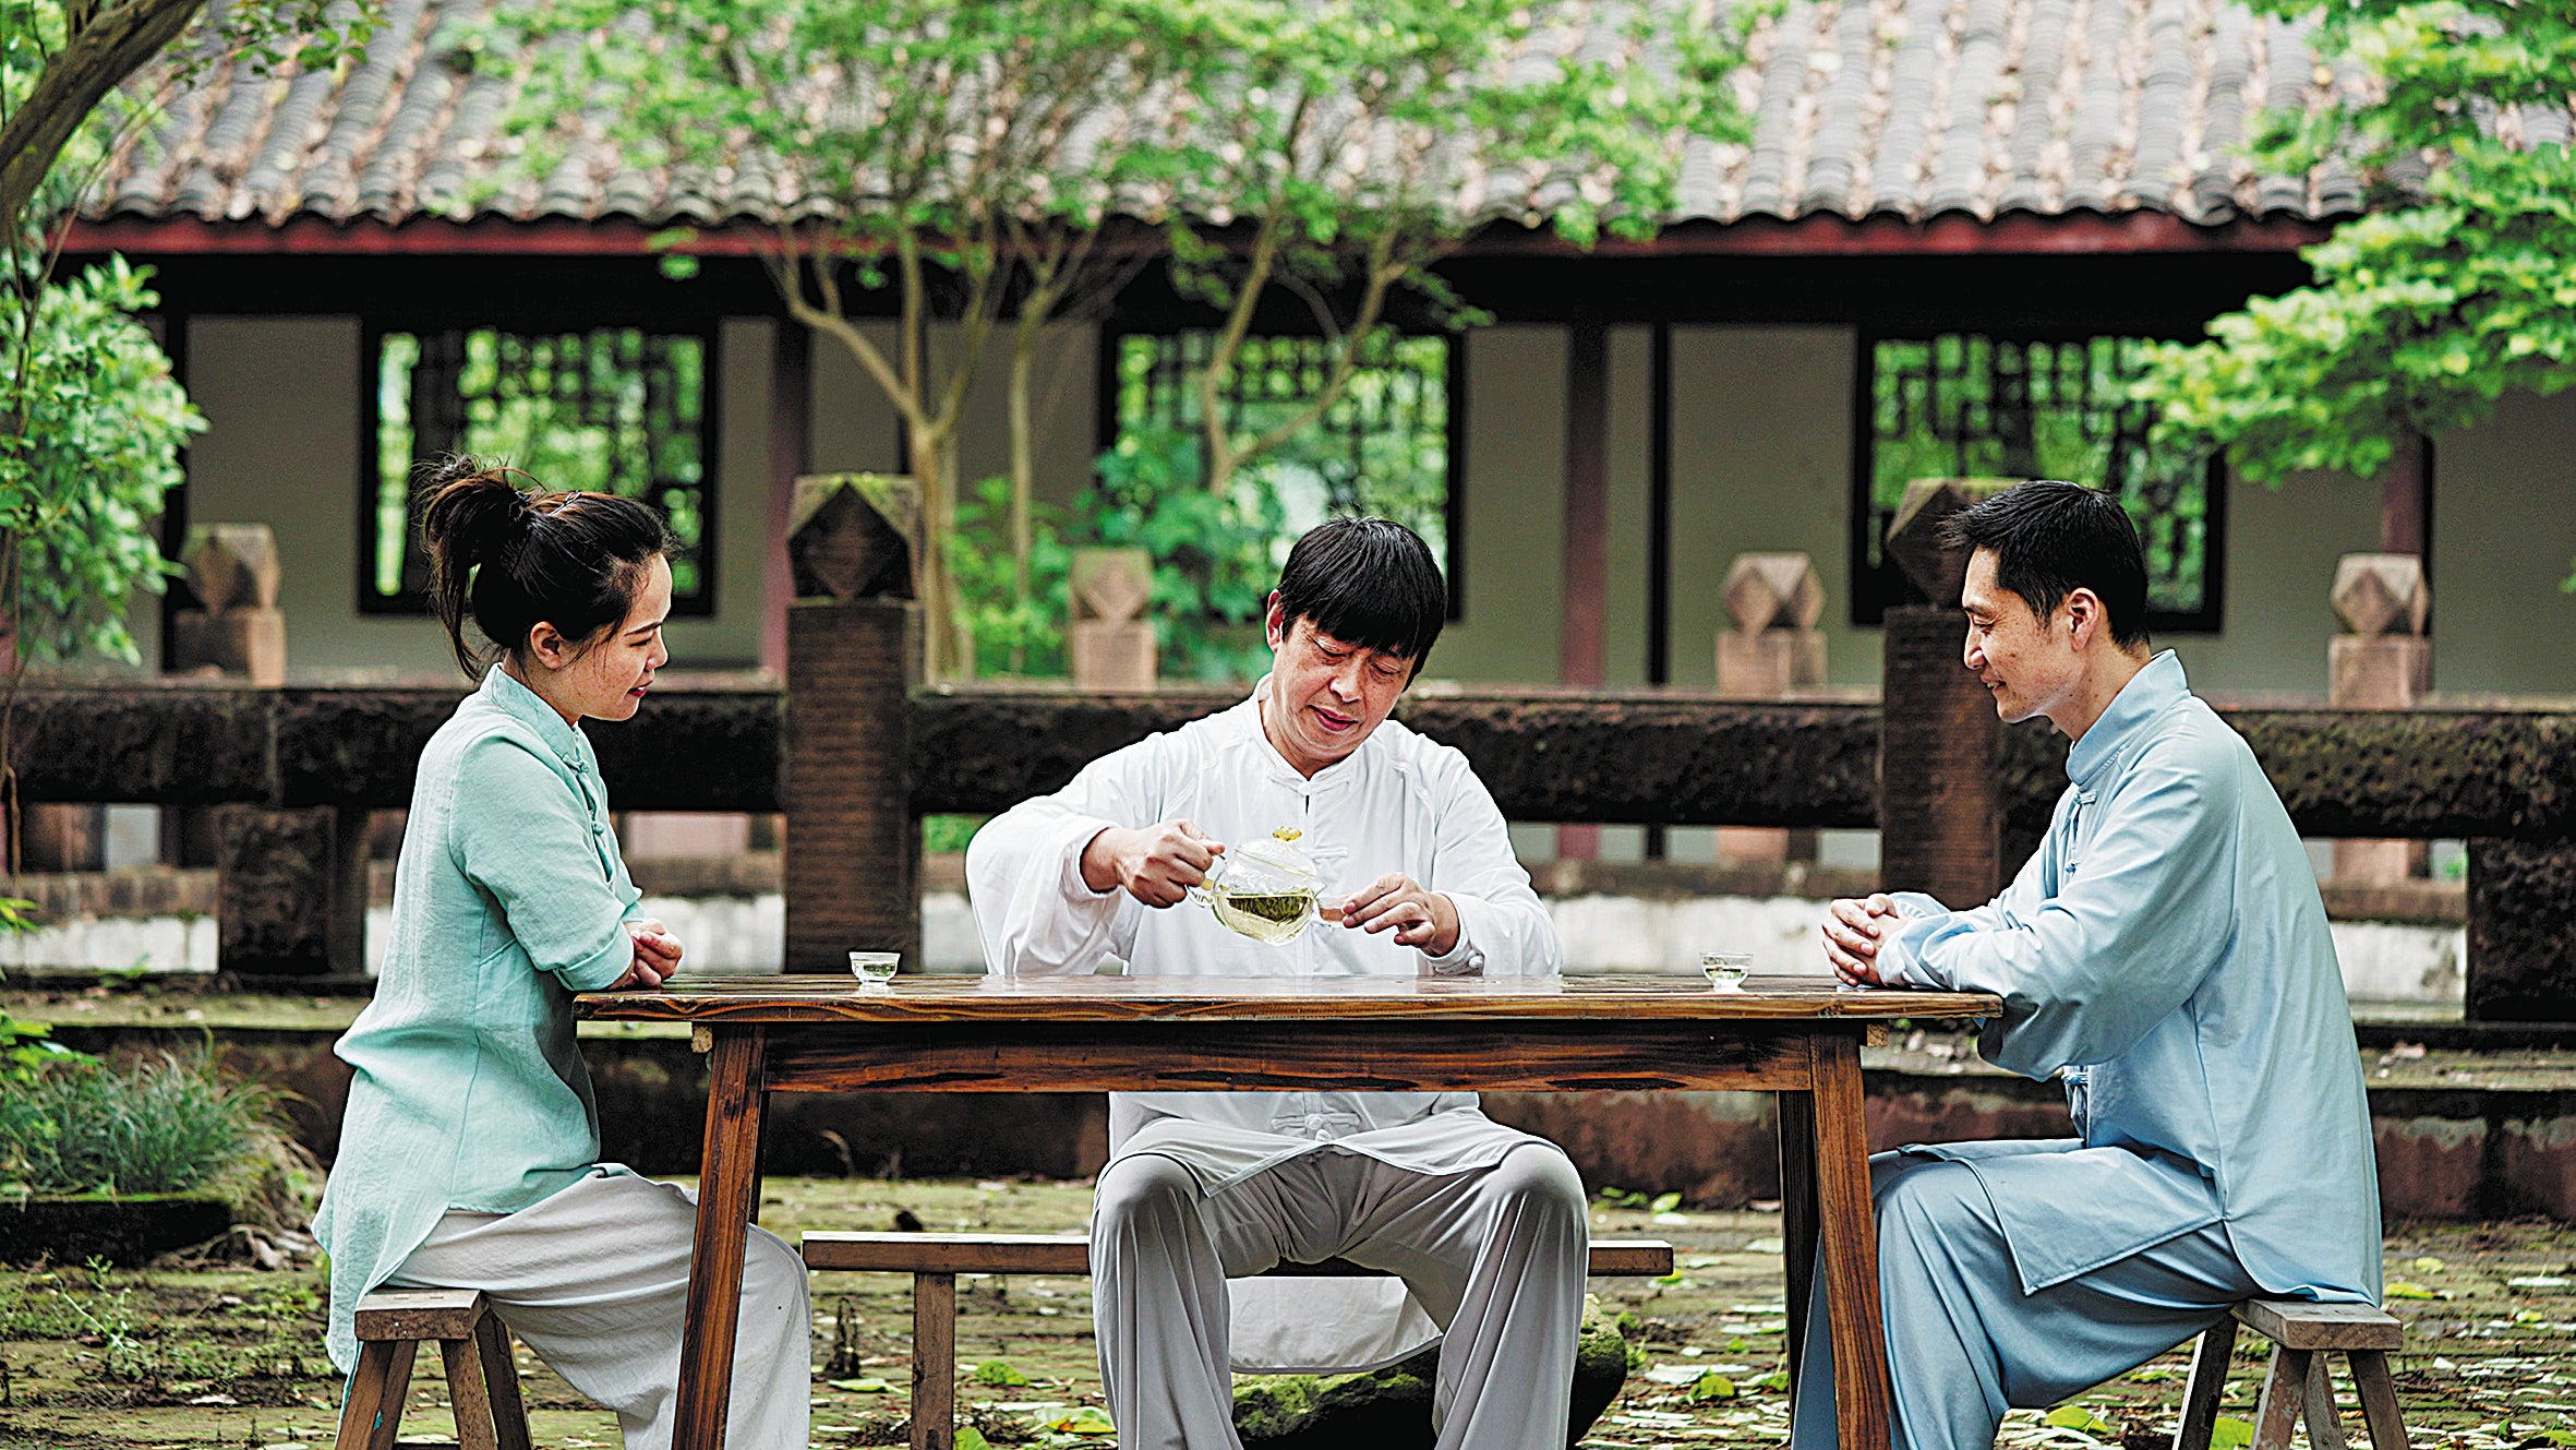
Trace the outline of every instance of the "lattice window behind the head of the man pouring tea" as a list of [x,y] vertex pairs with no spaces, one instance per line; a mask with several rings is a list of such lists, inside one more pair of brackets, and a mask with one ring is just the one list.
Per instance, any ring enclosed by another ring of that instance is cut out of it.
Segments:
[[[1118,337],[1118,438],[1154,430],[1198,435],[1198,376],[1211,332],[1131,332]],[[1332,345],[1321,337],[1249,337],[1226,386],[1226,422],[1265,433],[1291,420],[1324,386]],[[1247,474],[1278,492],[1288,543],[1340,515],[1394,518],[1422,536],[1450,582],[1458,613],[1458,489],[1450,438],[1450,337],[1376,332],[1342,397]]]

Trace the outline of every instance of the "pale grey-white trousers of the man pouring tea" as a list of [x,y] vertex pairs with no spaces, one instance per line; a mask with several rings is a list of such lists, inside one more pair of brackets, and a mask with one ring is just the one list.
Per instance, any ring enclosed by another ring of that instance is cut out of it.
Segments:
[[1226,1280],[1350,1259],[1448,1329],[1437,1450],[1564,1450],[1589,1239],[1584,1185],[1525,1144],[1425,1174],[1319,1149],[1206,1195],[1159,1154],[1113,1162],[1092,1210],[1092,1319],[1121,1450],[1239,1450]]

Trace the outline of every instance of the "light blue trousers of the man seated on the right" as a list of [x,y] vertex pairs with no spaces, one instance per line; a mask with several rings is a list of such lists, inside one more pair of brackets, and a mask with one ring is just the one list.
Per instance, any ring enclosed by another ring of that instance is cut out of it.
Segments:
[[[1989,1450],[2007,1409],[2043,1409],[2133,1370],[2262,1293],[2218,1223],[2022,1293],[1994,1203],[1965,1164],[1875,1154],[1870,1192],[1896,1450]],[[2084,1205],[2066,1213],[2074,1221]],[[1790,1450],[1837,1442],[1819,1267]]]

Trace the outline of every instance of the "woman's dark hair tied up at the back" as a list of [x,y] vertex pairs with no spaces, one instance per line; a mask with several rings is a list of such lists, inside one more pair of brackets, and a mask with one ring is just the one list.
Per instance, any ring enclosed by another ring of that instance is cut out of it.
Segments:
[[422,464],[430,608],[466,675],[487,664],[466,644],[469,613],[502,654],[528,649],[538,623],[580,644],[626,618],[644,567],[672,549],[670,525],[636,500],[528,492],[513,476],[528,479],[487,458]]

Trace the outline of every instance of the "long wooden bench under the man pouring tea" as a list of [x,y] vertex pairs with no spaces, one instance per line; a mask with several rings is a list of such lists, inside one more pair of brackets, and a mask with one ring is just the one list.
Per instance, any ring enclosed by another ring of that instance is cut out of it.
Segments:
[[[912,1450],[956,1445],[958,1393],[958,1275],[1061,1275],[1092,1272],[1092,1241],[1082,1234],[806,1234],[809,1270],[860,1270],[912,1275]],[[1347,1259],[1280,1265],[1275,1275],[1376,1277]],[[1592,1244],[1592,1270],[1602,1275],[1669,1275],[1672,1244],[1662,1239],[1607,1239]]]

